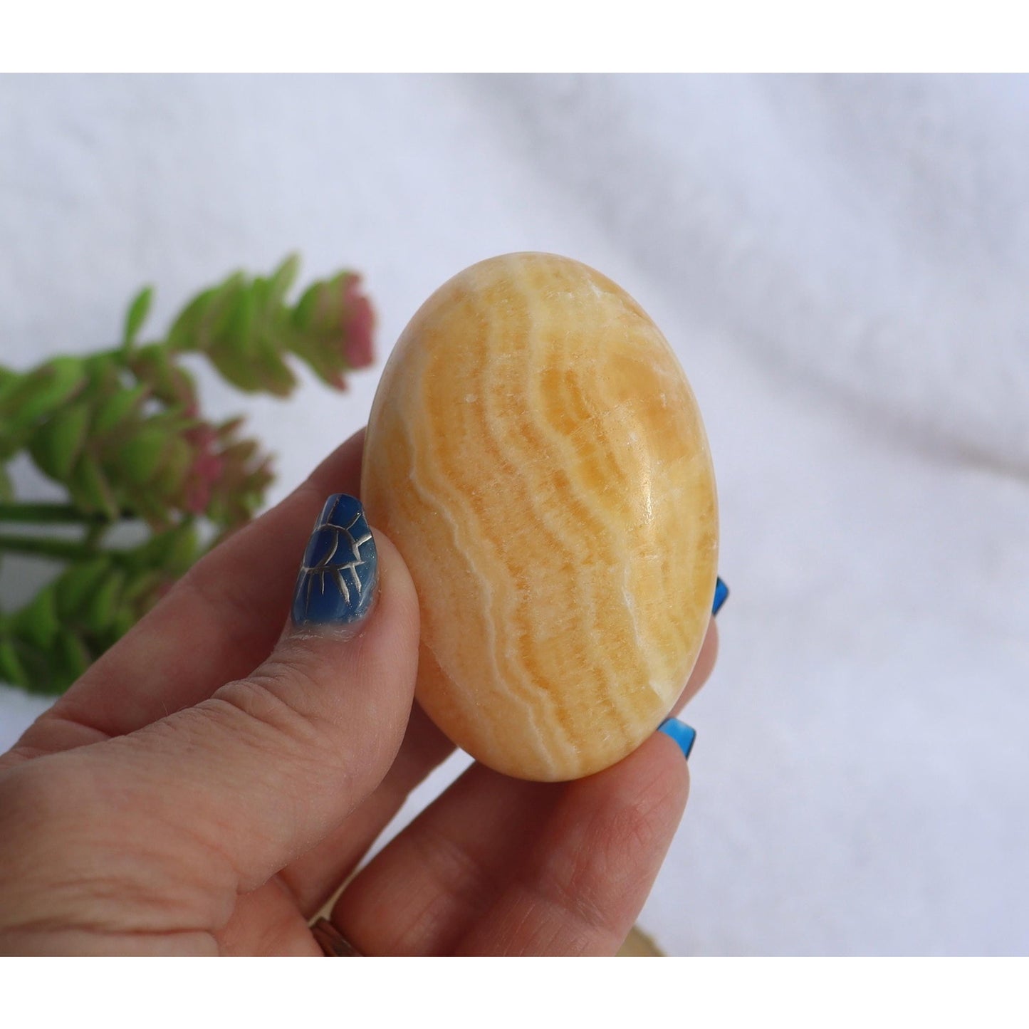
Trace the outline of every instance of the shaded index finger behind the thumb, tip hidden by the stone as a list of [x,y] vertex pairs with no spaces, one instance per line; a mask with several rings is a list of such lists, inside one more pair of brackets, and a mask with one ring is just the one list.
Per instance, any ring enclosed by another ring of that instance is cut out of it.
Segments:
[[315,514],[327,495],[357,493],[363,440],[363,430],[351,436],[286,499],[199,561],[15,751],[34,756],[131,733],[260,664],[282,629]]

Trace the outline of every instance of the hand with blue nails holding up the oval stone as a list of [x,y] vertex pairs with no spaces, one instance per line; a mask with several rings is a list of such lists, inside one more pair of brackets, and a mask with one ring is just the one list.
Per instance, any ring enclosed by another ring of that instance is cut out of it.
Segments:
[[[322,953],[310,920],[453,749],[413,707],[418,605],[381,533],[370,609],[310,626],[324,612],[300,600],[280,632],[325,497],[357,493],[361,442],[199,562],[0,757],[0,952]],[[712,627],[678,706],[716,648]],[[664,733],[571,783],[474,765],[332,921],[371,955],[613,954],[687,786]]]

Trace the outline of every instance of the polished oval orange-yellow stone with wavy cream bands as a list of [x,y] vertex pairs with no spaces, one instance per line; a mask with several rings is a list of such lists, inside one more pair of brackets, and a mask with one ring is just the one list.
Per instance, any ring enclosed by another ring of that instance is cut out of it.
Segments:
[[542,253],[451,279],[386,365],[361,489],[418,590],[418,700],[473,757],[578,778],[668,714],[717,502],[689,384],[625,290]]

